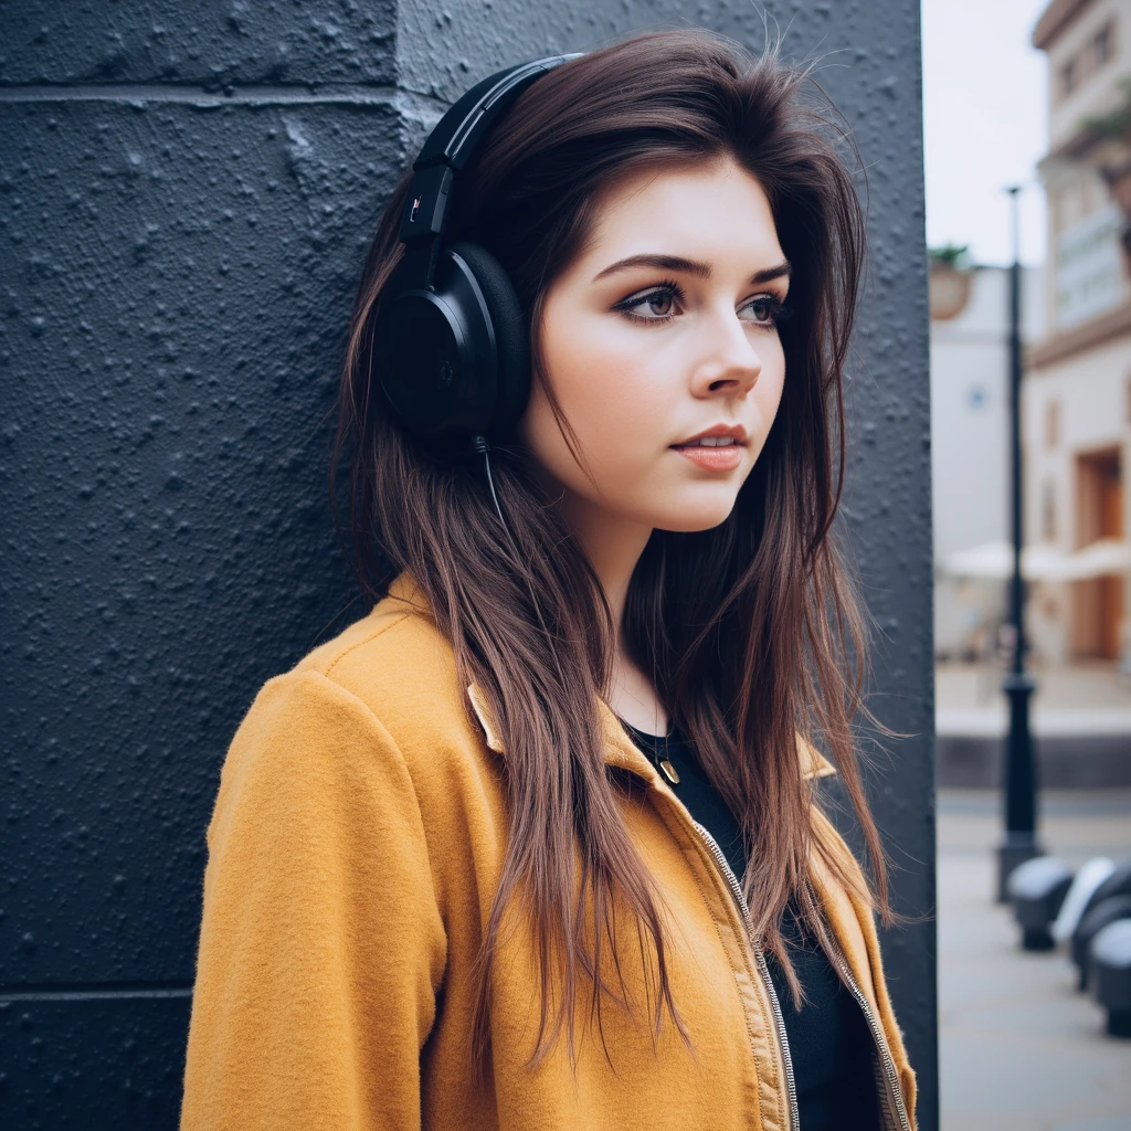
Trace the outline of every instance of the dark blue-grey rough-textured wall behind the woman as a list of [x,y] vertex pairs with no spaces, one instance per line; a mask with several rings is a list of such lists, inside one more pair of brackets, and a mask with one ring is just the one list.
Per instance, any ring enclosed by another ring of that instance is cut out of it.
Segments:
[[[568,10],[567,10],[568,9]],[[848,498],[881,630],[873,776],[930,912],[930,502],[916,0],[767,3],[869,169]],[[227,742],[355,615],[326,503],[344,328],[396,173],[474,79],[749,0],[0,7],[0,1121],[175,1125]],[[863,184],[862,184],[863,188]],[[934,932],[886,940],[935,1126]]]

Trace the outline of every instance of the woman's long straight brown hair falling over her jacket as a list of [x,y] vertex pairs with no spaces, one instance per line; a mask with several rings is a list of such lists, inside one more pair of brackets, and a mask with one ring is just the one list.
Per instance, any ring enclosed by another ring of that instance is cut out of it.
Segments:
[[[851,727],[863,708],[866,633],[830,535],[845,472],[843,374],[864,219],[841,156],[854,152],[851,139],[808,96],[808,77],[772,50],[754,58],[699,31],[639,35],[572,60],[529,87],[484,139],[457,182],[448,232],[484,245],[512,278],[529,316],[533,379],[570,440],[539,354],[541,310],[592,231],[603,190],[644,166],[728,156],[769,198],[793,266],[777,418],[724,523],[653,533],[632,575],[622,632],[742,826],[756,932],[795,993],[778,923],[793,897],[824,936],[810,853],[870,898],[812,834],[798,732],[839,769],[867,846],[873,898],[887,913],[883,853]],[[542,972],[532,1062],[563,1031],[576,1056],[582,979],[598,1028],[603,998],[631,1008],[615,956],[619,907],[634,916],[633,936],[654,970],[645,981],[656,990],[654,1034],[664,1009],[682,1033],[654,881],[604,763],[595,697],[607,693],[614,627],[596,575],[517,438],[492,450],[508,537],[482,463],[406,435],[383,411],[373,375],[381,359],[368,353],[368,330],[399,259],[408,180],[389,200],[365,264],[339,452],[348,452],[353,556],[370,599],[391,573],[412,573],[452,644],[461,685],[480,685],[507,750],[509,839],[480,951],[474,1055],[482,1067],[492,964],[516,893],[533,916]],[[612,979],[603,946],[614,951]]]

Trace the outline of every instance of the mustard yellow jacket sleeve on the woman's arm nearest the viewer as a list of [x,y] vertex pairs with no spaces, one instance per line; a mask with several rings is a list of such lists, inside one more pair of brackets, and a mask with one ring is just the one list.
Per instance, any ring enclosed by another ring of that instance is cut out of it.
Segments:
[[392,739],[317,672],[270,681],[208,828],[181,1131],[418,1129],[444,961]]

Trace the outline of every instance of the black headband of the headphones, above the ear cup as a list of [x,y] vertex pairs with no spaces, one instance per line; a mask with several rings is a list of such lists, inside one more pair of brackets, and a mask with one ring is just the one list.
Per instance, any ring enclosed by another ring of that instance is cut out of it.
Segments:
[[480,138],[535,79],[581,53],[547,55],[507,67],[489,75],[460,96],[440,119],[413,162],[415,175],[400,221],[403,243],[418,243],[443,234],[455,173],[467,164]]

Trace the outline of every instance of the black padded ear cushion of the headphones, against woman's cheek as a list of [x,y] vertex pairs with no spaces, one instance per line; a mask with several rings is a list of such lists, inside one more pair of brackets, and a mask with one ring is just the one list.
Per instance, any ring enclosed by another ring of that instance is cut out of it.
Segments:
[[530,343],[526,314],[515,293],[515,284],[490,251],[463,240],[449,244],[449,249],[470,268],[491,317],[499,383],[487,434],[491,439],[504,441],[523,415],[530,395]]

